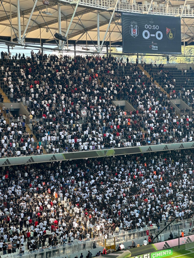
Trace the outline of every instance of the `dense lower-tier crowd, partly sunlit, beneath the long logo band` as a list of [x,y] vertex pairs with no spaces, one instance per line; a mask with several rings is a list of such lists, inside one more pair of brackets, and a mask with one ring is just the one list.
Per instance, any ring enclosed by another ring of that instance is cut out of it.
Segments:
[[194,218],[193,159],[192,150],[181,150],[1,167],[0,250]]

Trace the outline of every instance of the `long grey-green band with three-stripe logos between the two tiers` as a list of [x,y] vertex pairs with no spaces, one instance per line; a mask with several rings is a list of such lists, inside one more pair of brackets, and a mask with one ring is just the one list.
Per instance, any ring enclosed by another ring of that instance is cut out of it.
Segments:
[[65,152],[55,154],[43,154],[33,156],[19,156],[0,159],[0,166],[13,166],[20,164],[33,164],[40,162],[53,162],[65,159],[84,159],[95,158],[105,156],[127,155],[144,152],[158,152],[168,151],[175,149],[189,149],[194,148],[194,142],[182,142],[182,143],[169,143],[159,145],[149,145],[141,147],[127,147],[127,148],[115,148],[115,149],[99,149],[92,151],[78,151],[78,152]]

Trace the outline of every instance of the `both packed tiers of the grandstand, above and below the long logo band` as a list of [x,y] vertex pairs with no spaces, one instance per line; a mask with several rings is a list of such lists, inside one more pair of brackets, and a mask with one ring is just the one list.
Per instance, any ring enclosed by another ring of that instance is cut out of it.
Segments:
[[[111,55],[71,58],[32,51],[31,57],[4,52],[1,57],[2,90],[29,112],[13,116],[2,103],[2,158],[194,140],[189,109],[179,114],[170,104],[185,96],[192,107],[193,90],[189,84],[178,88],[177,69],[171,74],[162,65]],[[180,71],[191,80],[192,72]],[[4,102],[2,93],[0,99]],[[128,101],[132,109],[114,105],[115,100]],[[85,120],[80,109],[87,110]],[[139,230],[147,237],[145,229],[155,234],[173,219],[191,227],[193,159],[192,149],[181,149],[1,167],[0,254],[44,249],[46,257],[57,257],[49,248],[61,245],[66,255],[70,243],[84,251],[88,240],[95,239],[95,249],[97,238],[116,233],[132,232],[131,240]],[[149,243],[152,239],[150,234]]]

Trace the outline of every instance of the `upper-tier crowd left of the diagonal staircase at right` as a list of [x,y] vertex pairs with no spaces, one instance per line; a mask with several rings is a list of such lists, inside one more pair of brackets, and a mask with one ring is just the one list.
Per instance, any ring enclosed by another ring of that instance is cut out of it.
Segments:
[[[9,122],[2,116],[1,157],[194,139],[193,118],[179,117],[167,94],[129,59],[33,51],[31,57],[1,56],[2,88],[11,102],[22,102],[29,111],[29,117],[11,116]],[[115,106],[116,99],[128,100],[133,111]],[[84,119],[81,109],[87,110]],[[36,139],[27,132],[28,119]]]

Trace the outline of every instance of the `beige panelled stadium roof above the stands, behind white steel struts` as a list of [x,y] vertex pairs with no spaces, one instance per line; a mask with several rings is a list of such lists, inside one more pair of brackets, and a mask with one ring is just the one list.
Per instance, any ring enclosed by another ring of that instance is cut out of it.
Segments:
[[[11,0],[10,2],[12,13],[12,36],[13,41],[16,41],[16,35],[18,35],[17,0]],[[0,6],[0,39],[9,41],[11,38],[10,2],[9,0],[5,0]],[[21,34],[23,34],[23,30],[28,22],[34,2],[34,0],[20,0]],[[68,0],[49,1],[48,12],[50,12],[52,15],[46,15],[43,14],[42,11],[46,11],[47,6],[43,5],[42,1],[38,0],[26,31],[26,42],[39,43],[40,37],[44,43],[54,42],[53,35],[55,32],[58,32],[58,3],[61,4],[61,31],[62,35],[65,35],[76,4],[76,2],[74,2],[74,4],[71,5],[70,2],[71,1]],[[115,2],[116,0],[80,0],[75,17],[73,18],[71,27],[69,29],[69,41],[71,41],[71,43],[76,42],[79,45],[82,43],[85,44],[87,38],[88,44],[92,42],[96,44],[97,10],[99,10],[100,41],[102,41],[112,15],[112,7],[114,7]],[[136,13],[147,13],[147,10],[149,10],[150,2],[152,1],[136,1],[135,3],[134,0],[131,2],[133,2],[133,4],[130,4],[130,2],[126,4],[126,2],[120,1],[118,5],[118,11],[121,10],[127,12],[130,11]],[[185,26],[185,41],[187,42],[189,39],[191,39],[190,43],[192,43],[192,37],[194,37],[194,1],[153,1],[149,13],[156,14],[154,10],[158,10],[157,12],[160,12],[160,14],[164,15],[182,15],[182,41],[184,38],[183,32]],[[117,14],[117,9],[115,14]],[[110,32],[107,33],[105,41],[107,40],[107,44],[109,45],[110,35],[112,45],[122,45],[121,33],[121,19],[114,15],[110,25]]]

